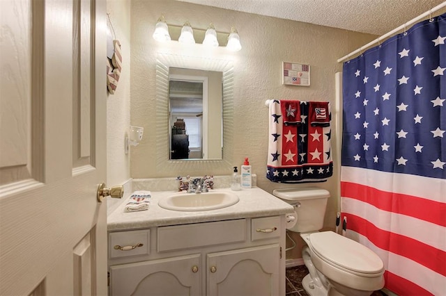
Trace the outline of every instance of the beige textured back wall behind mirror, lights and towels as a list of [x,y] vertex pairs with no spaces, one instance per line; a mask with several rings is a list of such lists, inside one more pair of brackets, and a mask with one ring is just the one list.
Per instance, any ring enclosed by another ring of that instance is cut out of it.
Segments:
[[[162,44],[151,37],[157,18],[164,14],[168,24],[182,25],[189,21],[194,28],[207,28],[213,22],[217,31],[229,32],[235,25],[243,46],[241,51],[230,53],[222,50],[213,51],[203,46],[194,47],[194,52],[184,49],[185,55],[202,55],[225,58],[234,62],[234,143],[231,151],[231,166],[243,164],[249,157],[257,185],[268,192],[276,188],[291,186],[272,183],[266,179],[266,158],[268,152],[268,108],[266,99],[300,99],[302,101],[330,101],[334,107],[334,74],[340,72],[340,58],[376,38],[374,35],[355,33],[325,26],[316,26],[293,22],[273,17],[263,17],[232,10],[199,6],[173,0],[134,0],[131,4],[131,121],[144,126],[144,140],[132,150],[131,176],[133,178],[153,178],[191,174],[190,167],[169,174],[159,174],[155,159],[155,106],[156,77],[155,56],[167,47],[177,47],[177,54],[182,54],[180,44]],[[305,63],[311,66],[310,87],[282,85],[282,61]],[[332,135],[337,126],[332,124]],[[317,186],[330,190],[332,197],[328,202],[325,215],[325,227],[333,228],[338,211],[337,187],[339,185],[339,151],[336,147],[339,139],[332,138],[334,156],[334,176]],[[206,174],[231,174],[231,167]],[[295,236],[298,238],[298,236]],[[299,254],[293,256],[300,258]]]

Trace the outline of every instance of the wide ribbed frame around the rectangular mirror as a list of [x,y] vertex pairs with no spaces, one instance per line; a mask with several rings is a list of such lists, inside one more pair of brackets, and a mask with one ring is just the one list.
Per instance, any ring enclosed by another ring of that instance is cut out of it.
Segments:
[[[223,151],[221,160],[169,159],[169,68],[200,69],[223,73]],[[156,56],[156,168],[158,172],[231,172],[233,152],[233,81],[231,60],[158,53]]]

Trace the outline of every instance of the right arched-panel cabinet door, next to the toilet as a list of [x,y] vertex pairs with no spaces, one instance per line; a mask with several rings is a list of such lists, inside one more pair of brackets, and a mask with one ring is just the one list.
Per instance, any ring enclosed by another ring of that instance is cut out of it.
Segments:
[[208,295],[279,295],[279,244],[208,254]]

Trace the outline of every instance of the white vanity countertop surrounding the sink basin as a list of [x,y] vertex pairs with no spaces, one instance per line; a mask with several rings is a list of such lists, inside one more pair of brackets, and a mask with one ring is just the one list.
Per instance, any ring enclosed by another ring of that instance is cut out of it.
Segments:
[[160,199],[167,198],[170,195],[177,194],[178,192],[151,192],[151,202],[148,211],[124,213],[124,207],[125,204],[127,204],[127,200],[125,200],[120,206],[118,206],[118,208],[116,208],[115,211],[108,215],[107,229],[108,231],[121,231],[175,224],[231,220],[247,217],[266,217],[272,215],[283,215],[294,211],[293,206],[283,202],[274,195],[270,195],[270,193],[260,188],[254,187],[242,189],[240,191],[231,191],[229,188],[219,188],[215,189],[215,191],[232,192],[238,195],[240,201],[233,206],[212,211],[171,211],[158,206],[158,201]]

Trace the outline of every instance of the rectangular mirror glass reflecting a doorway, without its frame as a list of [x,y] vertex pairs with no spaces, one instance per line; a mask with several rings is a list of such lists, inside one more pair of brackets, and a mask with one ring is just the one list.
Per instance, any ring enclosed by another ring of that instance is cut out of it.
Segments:
[[169,68],[169,159],[222,159],[222,72]]

